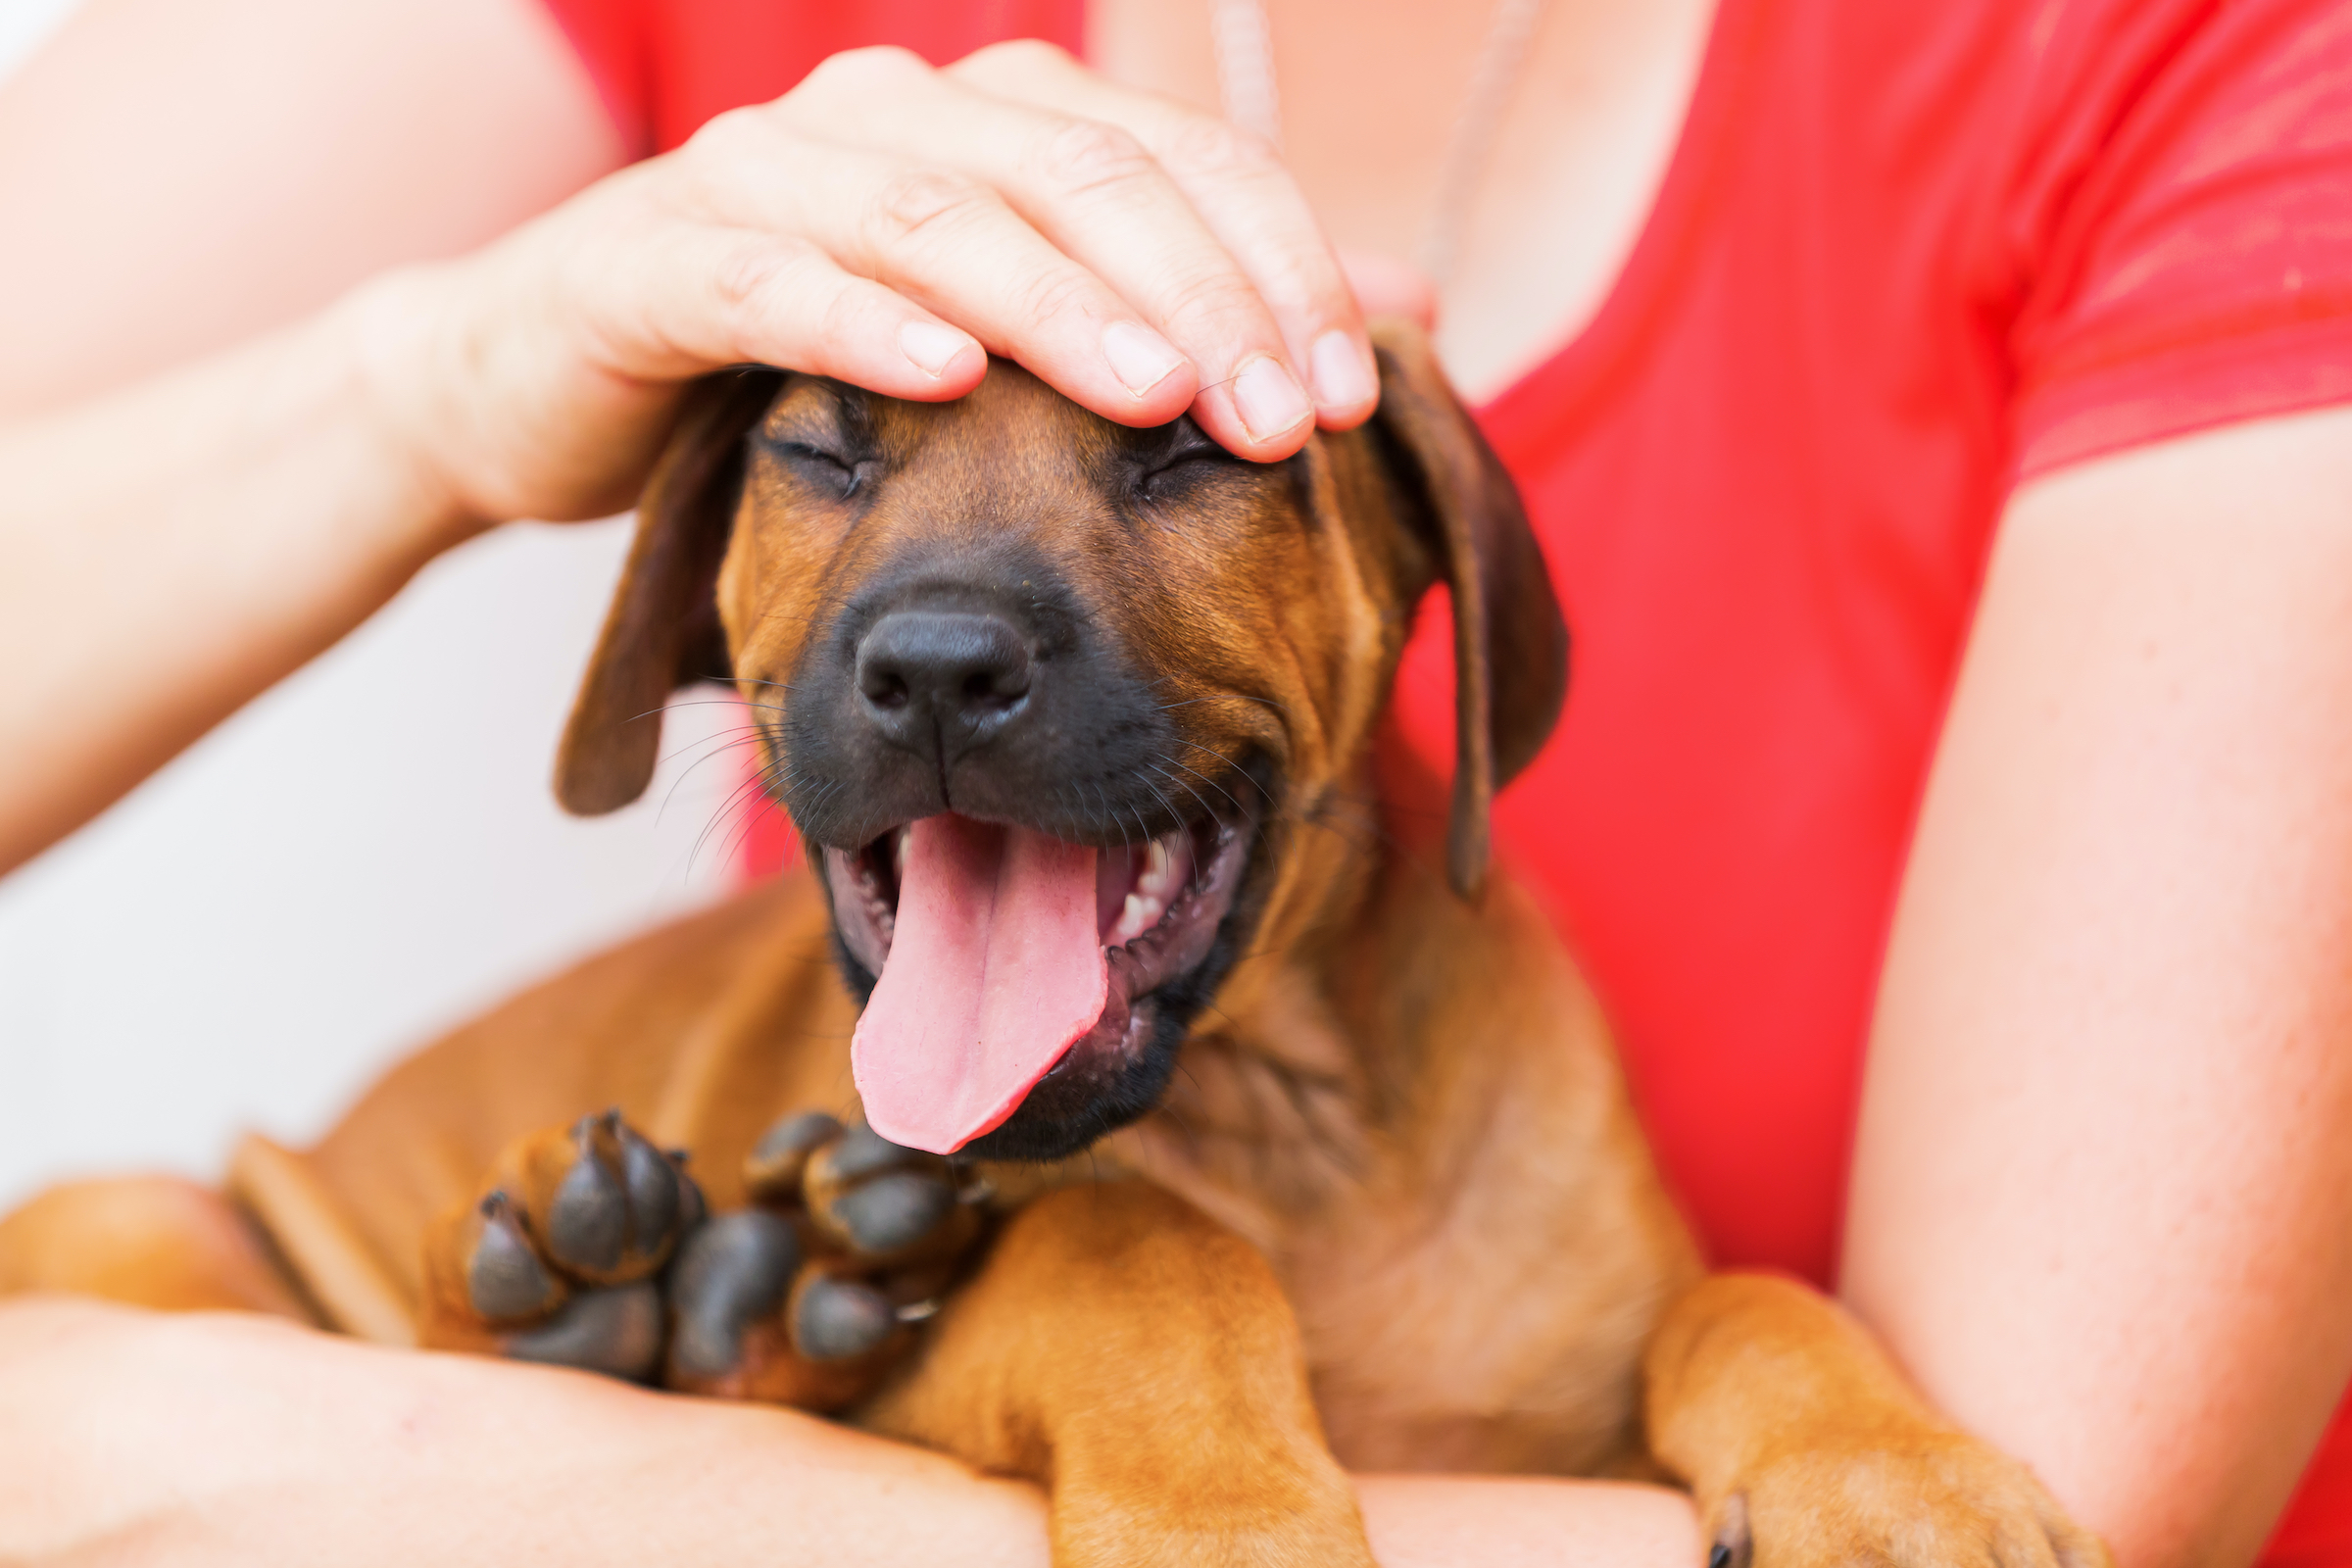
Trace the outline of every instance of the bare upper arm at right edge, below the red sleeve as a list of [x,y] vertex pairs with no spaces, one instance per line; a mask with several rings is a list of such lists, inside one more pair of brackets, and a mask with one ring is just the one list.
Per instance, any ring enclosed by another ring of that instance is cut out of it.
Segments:
[[2122,1568],[2352,1371],[2352,411],[2027,484],[1896,912],[1844,1293]]

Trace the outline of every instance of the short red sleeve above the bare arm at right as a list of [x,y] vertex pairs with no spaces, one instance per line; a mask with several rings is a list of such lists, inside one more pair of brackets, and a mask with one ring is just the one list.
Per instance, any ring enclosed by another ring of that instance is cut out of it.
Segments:
[[2004,214],[2034,475],[2352,400],[2352,5],[2051,5]]

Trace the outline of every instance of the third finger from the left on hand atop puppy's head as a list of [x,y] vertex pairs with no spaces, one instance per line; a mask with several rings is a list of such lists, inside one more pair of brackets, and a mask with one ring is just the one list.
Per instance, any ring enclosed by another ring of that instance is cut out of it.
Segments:
[[995,96],[920,59],[835,56],[779,110],[931,160],[995,190],[1061,254],[1101,277],[1200,371],[1195,418],[1251,458],[1296,451],[1315,416],[1301,364],[1256,284],[1127,129]]

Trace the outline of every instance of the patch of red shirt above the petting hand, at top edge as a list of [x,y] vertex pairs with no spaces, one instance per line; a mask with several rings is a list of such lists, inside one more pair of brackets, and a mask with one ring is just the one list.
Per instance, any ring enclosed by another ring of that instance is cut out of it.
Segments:
[[816,61],[901,45],[948,63],[1007,38],[1077,49],[1084,0],[548,0],[630,150],[788,92]]

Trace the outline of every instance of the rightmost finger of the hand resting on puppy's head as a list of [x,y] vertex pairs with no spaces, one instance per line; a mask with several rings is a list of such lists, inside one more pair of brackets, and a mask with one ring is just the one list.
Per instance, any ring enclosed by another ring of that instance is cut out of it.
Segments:
[[1117,87],[1054,45],[990,45],[948,75],[1004,99],[1117,125],[1218,237],[1305,369],[1317,423],[1343,430],[1378,402],[1371,343],[1305,195],[1258,136],[1188,103]]

